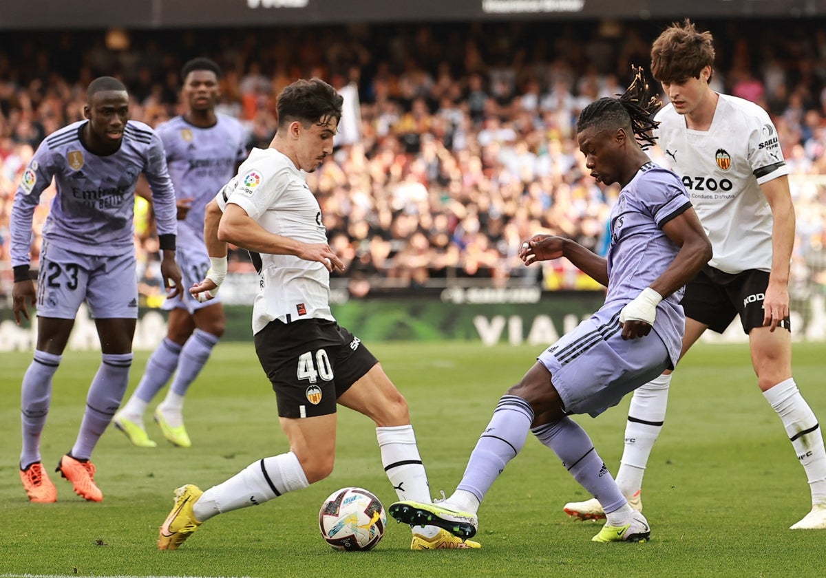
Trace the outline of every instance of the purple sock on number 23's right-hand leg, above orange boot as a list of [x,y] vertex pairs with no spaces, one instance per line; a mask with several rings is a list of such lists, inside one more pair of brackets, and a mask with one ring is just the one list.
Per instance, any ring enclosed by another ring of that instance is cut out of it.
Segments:
[[80,424],[78,439],[72,448],[72,457],[88,460],[97,440],[106,431],[129,385],[129,367],[132,364],[131,353],[103,353],[101,366],[98,367],[92,385],[86,396],[86,411]]

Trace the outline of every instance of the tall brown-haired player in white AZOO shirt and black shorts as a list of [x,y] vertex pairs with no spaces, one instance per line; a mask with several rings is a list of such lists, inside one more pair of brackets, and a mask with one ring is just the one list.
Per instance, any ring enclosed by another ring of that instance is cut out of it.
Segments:
[[[826,452],[818,420],[791,373],[789,267],[795,211],[777,132],[753,102],[714,92],[710,32],[686,19],[651,50],[654,78],[671,103],[656,120],[659,145],[682,178],[714,246],[714,258],[686,287],[682,353],[705,329],[722,333],[736,315],[748,334],[757,386],[780,417],[809,478],[812,509],[792,529],[826,529]],[[665,419],[672,372],[634,391],[617,483],[637,509],[653,444]],[[727,497],[726,500],[729,500]],[[567,514],[604,517],[598,500]]]

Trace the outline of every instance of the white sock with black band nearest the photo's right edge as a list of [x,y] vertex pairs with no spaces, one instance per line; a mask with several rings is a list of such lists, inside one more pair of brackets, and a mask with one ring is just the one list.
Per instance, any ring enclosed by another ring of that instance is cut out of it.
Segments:
[[800,395],[795,379],[781,381],[763,396],[780,416],[797,459],[806,471],[812,504],[826,504],[826,450],[818,419]]

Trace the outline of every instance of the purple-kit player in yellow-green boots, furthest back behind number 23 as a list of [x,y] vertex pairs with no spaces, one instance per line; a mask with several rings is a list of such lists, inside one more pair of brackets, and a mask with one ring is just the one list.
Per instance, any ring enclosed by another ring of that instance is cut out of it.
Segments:
[[[166,150],[169,175],[178,197],[178,266],[184,287],[200,282],[210,267],[204,245],[204,211],[246,158],[246,132],[241,123],[215,110],[221,68],[207,58],[189,60],[181,69],[181,99],[187,106],[156,129]],[[154,410],[164,438],[180,448],[192,445],[183,425],[183,398],[224,333],[220,299],[198,301],[187,291],[183,300],[167,300],[167,335],[146,363],[143,377],[112,423],[132,443],[154,448],[144,426],[144,413],[173,376],[164,400]]]

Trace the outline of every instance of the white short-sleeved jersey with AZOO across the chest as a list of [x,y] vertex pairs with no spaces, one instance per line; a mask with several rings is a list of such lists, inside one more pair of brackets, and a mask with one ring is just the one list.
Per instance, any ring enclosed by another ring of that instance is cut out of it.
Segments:
[[729,273],[771,271],[773,218],[760,185],[789,174],[789,167],[767,112],[720,94],[709,130],[686,128],[671,104],[655,120],[665,162],[680,175],[711,240],[709,265]]

